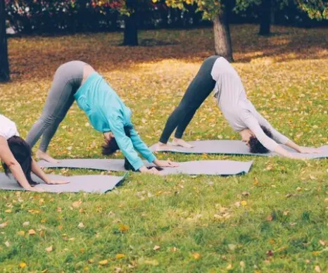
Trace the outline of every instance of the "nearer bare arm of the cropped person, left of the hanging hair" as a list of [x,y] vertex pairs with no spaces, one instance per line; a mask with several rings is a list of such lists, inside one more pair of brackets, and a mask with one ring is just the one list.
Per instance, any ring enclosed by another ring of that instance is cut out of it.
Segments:
[[15,157],[13,156],[13,153],[11,153],[11,149],[8,146],[7,140],[3,136],[0,136],[0,158],[8,166],[9,170],[11,170],[13,177],[15,177],[20,186],[23,186],[23,188],[27,191],[36,190],[30,186],[22,167],[20,167],[18,161],[15,160]]

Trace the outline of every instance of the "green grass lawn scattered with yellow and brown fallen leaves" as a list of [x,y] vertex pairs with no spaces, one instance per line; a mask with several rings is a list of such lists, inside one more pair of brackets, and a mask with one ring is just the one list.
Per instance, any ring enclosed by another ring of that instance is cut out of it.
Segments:
[[[271,37],[257,31],[232,26],[233,65],[249,99],[296,143],[327,145],[328,29],[273,27]],[[213,54],[212,35],[210,29],[145,31],[140,39],[155,45],[132,48],[120,46],[118,33],[11,38],[13,82],[0,85],[0,113],[26,136],[58,65],[80,59],[111,82],[151,145],[201,61]],[[185,134],[237,138],[211,97]],[[49,153],[101,158],[102,141],[75,104]],[[238,177],[131,173],[102,195],[0,191],[0,270],[328,272],[328,160],[158,154],[168,157],[254,164]]]

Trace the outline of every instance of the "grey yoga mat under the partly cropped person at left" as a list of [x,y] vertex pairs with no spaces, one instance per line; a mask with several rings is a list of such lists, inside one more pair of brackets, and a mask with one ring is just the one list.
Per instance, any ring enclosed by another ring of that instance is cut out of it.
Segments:
[[[60,192],[89,192],[89,193],[106,193],[111,191],[119,182],[125,177],[116,177],[113,175],[74,175],[71,177],[63,177],[62,175],[50,174],[51,179],[68,180],[70,183],[61,185],[44,184],[41,179],[34,177],[35,182],[39,182],[37,188],[42,188],[46,192],[60,193]],[[6,174],[0,173],[0,189],[24,191],[18,185],[15,179],[6,177]]]

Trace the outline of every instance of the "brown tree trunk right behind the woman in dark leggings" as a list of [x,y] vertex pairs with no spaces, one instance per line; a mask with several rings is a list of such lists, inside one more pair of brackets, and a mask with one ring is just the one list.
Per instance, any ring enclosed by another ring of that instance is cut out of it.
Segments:
[[215,53],[233,62],[230,29],[225,8],[213,20]]

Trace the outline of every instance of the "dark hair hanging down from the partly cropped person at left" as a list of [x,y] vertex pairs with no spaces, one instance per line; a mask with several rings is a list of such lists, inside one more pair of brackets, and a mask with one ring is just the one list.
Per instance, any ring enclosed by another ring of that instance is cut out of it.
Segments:
[[[31,186],[39,184],[37,182],[34,182],[31,177],[32,150],[30,148],[30,145],[27,144],[27,142],[20,136],[11,136],[11,138],[8,139],[7,142],[15,160],[17,160],[20,164],[20,167],[22,168],[25,174],[27,182]],[[2,167],[4,167],[4,172],[8,176],[10,172],[8,165],[2,162]]]

